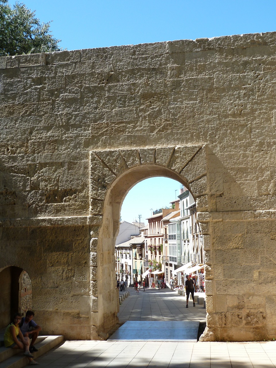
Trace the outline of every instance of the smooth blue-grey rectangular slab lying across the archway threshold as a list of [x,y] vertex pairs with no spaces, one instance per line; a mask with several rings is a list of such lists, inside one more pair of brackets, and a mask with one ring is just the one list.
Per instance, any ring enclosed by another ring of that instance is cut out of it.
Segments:
[[199,321],[127,321],[108,340],[196,342]]

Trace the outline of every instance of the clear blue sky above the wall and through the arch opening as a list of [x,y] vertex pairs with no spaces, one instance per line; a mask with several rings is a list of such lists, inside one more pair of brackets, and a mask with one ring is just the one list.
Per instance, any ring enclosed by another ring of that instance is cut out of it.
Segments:
[[[68,50],[276,31],[275,0],[25,0]],[[14,4],[15,1],[9,1]],[[169,206],[180,184],[168,178],[142,181],[130,190],[123,220],[142,220]]]

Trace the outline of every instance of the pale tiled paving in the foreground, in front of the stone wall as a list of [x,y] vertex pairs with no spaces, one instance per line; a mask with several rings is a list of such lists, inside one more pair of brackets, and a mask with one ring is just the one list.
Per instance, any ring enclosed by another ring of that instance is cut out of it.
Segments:
[[40,368],[275,368],[276,342],[66,341]]

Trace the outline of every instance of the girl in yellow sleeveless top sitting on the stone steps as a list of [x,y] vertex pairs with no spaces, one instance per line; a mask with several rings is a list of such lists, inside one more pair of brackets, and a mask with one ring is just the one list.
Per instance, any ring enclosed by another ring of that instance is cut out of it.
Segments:
[[[4,334],[4,343],[6,347],[10,347],[12,349],[22,349],[24,350],[24,355],[29,359],[29,365],[38,365],[39,363],[34,361],[33,355],[29,352],[29,337],[24,337],[19,328],[19,323],[21,321],[21,314],[16,313],[13,318],[13,322],[11,322],[6,328]],[[17,336],[19,336],[18,340]]]

